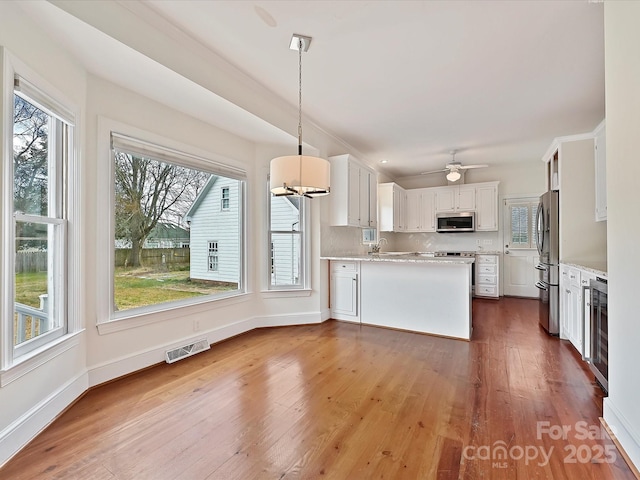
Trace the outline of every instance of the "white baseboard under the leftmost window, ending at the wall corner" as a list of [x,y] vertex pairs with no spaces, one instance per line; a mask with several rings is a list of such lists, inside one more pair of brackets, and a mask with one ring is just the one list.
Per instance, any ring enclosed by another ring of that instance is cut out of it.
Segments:
[[0,432],[0,467],[33,440],[89,388],[86,372],[77,375]]

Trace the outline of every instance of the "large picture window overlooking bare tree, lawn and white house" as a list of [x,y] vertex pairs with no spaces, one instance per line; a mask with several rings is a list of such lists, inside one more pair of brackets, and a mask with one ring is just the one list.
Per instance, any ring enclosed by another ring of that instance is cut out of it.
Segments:
[[242,292],[244,180],[115,133],[112,158],[113,316]]

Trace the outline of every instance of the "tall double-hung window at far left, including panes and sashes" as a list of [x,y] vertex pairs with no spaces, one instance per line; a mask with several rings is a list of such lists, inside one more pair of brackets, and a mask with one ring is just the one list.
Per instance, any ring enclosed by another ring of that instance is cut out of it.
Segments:
[[[16,75],[13,162],[4,172],[7,221],[2,316],[10,322],[11,359],[65,335],[67,315],[66,173],[73,155],[74,115]],[[6,283],[5,283],[6,282]],[[7,313],[7,315],[5,315]],[[6,347],[8,347],[5,344]]]

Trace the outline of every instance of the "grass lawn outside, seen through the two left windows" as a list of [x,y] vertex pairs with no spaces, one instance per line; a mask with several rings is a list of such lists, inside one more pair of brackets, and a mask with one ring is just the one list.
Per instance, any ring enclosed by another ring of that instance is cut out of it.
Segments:
[[[115,271],[115,304],[118,310],[211,295],[236,288],[235,284],[191,280],[188,270],[116,268]],[[16,302],[37,308],[40,306],[39,295],[43,293],[47,293],[45,272],[16,274]]]

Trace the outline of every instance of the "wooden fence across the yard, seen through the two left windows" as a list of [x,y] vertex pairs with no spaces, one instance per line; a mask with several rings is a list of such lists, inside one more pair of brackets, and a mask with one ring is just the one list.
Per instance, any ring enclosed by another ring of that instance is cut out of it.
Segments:
[[[129,248],[118,248],[115,251],[115,265],[122,267],[129,257]],[[145,266],[156,265],[189,265],[190,250],[188,248],[143,248],[142,263]],[[46,272],[47,252],[16,252],[16,273]]]

